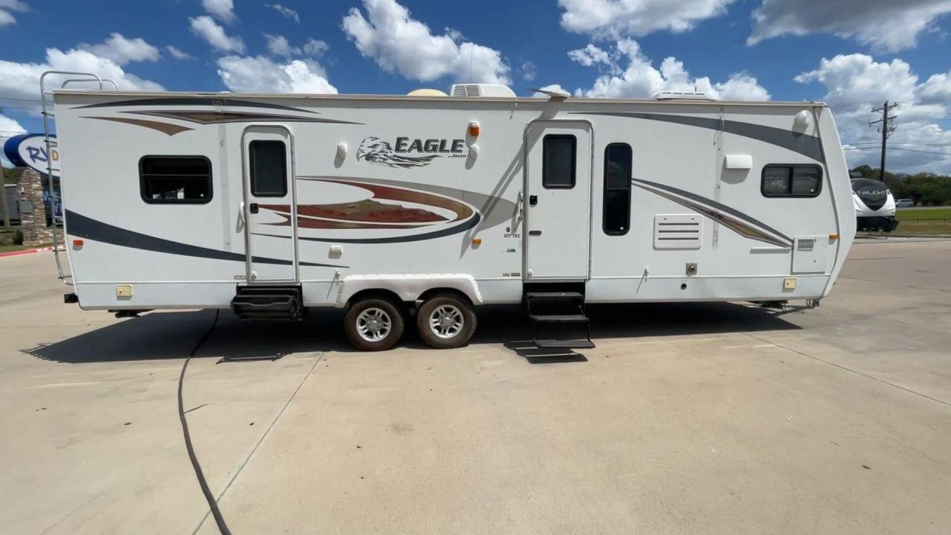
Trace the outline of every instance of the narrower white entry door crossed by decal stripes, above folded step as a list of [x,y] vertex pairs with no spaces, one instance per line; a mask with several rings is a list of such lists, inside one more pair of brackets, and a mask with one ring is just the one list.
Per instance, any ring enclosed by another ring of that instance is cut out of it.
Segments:
[[297,279],[294,147],[283,127],[244,130],[244,221],[249,283]]

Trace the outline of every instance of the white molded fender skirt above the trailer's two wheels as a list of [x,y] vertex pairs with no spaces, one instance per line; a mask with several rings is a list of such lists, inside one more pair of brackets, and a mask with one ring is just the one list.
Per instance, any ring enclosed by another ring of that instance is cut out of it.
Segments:
[[482,304],[476,279],[465,273],[434,273],[421,275],[348,275],[340,279],[337,307],[345,307],[354,294],[365,289],[385,289],[396,293],[402,301],[416,301],[426,290],[452,288],[466,294],[473,305]]

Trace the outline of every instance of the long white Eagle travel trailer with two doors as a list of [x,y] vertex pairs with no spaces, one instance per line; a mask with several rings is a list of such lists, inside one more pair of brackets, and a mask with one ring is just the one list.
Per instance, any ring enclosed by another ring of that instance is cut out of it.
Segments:
[[84,309],[340,307],[385,349],[523,304],[539,347],[591,347],[586,304],[816,304],[855,234],[818,102],[52,93]]

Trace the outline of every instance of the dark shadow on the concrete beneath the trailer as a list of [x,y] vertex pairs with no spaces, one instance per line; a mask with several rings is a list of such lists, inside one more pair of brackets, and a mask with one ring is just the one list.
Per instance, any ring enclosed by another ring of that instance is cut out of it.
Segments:
[[[93,313],[93,312],[90,312]],[[777,310],[738,303],[676,303],[592,305],[592,338],[684,336],[800,327]],[[38,358],[70,363],[182,359],[211,326],[214,310],[148,313],[98,328],[63,341],[22,349]],[[197,358],[231,361],[275,359],[313,351],[355,351],[343,336],[341,310],[314,311],[301,322],[243,322],[222,310],[211,337]],[[425,347],[408,317],[398,347]],[[503,344],[529,362],[577,362],[584,357],[566,351],[545,353],[526,347],[532,328],[519,307],[482,307],[471,345]],[[544,359],[536,360],[536,357]]]

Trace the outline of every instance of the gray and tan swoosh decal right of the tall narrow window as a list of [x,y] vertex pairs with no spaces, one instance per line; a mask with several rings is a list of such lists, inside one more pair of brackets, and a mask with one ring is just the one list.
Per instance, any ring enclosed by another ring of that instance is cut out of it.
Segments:
[[[730,208],[727,205],[712,201],[706,197],[701,197],[696,193],[691,193],[690,191],[680,188],[673,188],[666,184],[658,184],[656,182],[636,178],[632,178],[631,182],[634,186],[647,189],[654,194],[670,199],[670,201],[678,205],[702,213],[741,236],[783,248],[792,247],[792,239],[786,236],[786,234],[749,217],[747,214],[735,208]],[[645,186],[649,188],[645,188]]]

